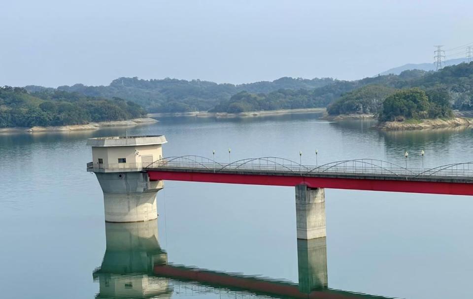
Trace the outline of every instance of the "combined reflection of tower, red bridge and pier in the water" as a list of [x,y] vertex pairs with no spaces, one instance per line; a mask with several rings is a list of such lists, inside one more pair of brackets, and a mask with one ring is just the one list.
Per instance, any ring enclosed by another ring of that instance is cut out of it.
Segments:
[[106,223],[106,251],[96,298],[385,298],[328,288],[325,238],[297,240],[299,283],[173,265],[158,242],[157,220]]

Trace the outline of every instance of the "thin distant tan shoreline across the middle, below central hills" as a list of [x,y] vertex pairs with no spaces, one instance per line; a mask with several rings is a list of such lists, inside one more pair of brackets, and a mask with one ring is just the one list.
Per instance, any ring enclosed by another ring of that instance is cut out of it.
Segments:
[[248,111],[248,112],[240,112],[240,113],[193,111],[193,112],[182,112],[182,113],[149,113],[148,117],[194,116],[194,117],[237,118],[237,117],[271,116],[271,115],[281,115],[281,114],[323,113],[325,111],[326,111],[326,108],[280,109],[280,110]]

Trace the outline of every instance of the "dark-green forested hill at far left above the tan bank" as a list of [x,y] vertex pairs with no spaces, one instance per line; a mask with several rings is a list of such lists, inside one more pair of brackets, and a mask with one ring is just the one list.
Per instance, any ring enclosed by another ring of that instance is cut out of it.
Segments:
[[0,128],[79,125],[146,116],[132,101],[86,97],[79,93],[0,87]]

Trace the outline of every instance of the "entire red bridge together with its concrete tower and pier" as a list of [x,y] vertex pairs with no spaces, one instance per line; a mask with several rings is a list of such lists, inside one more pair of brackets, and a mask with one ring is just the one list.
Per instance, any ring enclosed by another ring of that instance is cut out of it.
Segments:
[[222,163],[202,156],[163,158],[161,145],[166,142],[163,135],[88,140],[93,162],[87,171],[99,179],[105,221],[156,219],[156,193],[165,180],[295,187],[297,238],[305,240],[326,236],[325,188],[473,195],[473,162],[428,169],[377,159],[320,166],[277,157]]

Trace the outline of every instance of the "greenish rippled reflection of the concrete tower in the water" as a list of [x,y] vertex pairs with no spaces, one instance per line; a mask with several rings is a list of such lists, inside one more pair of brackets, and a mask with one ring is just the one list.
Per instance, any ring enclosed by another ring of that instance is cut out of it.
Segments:
[[100,291],[96,298],[170,298],[168,279],[154,277],[153,266],[166,263],[159,246],[158,221],[105,223],[107,249],[94,271]]

